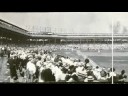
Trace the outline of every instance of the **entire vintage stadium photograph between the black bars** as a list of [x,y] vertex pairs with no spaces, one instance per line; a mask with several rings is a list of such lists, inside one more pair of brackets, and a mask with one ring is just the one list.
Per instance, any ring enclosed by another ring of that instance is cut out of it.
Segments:
[[127,82],[127,16],[0,12],[0,82]]

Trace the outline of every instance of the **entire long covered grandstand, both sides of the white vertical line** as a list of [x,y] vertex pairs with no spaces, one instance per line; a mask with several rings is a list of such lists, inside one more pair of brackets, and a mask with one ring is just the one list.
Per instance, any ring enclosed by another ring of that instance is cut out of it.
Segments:
[[[79,42],[79,43],[111,43],[111,33],[32,33],[16,25],[0,20],[0,41],[45,43]],[[128,42],[128,34],[114,34],[114,42]]]

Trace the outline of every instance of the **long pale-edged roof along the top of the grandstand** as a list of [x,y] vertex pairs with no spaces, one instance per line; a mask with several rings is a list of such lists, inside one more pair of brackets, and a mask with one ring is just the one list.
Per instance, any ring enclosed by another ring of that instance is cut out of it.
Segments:
[[[111,33],[58,33],[58,34],[52,34],[52,32],[49,34],[49,32],[43,32],[42,33],[35,33],[30,34],[27,30],[24,30],[16,25],[13,25],[11,23],[8,23],[4,20],[0,19],[0,27],[4,29],[8,29],[13,31],[14,33],[24,34],[26,36],[32,37],[32,38],[59,38],[59,39],[87,39],[87,38],[111,38]],[[27,33],[26,33],[27,32]],[[128,38],[128,34],[116,34],[114,36],[117,36],[116,38]]]

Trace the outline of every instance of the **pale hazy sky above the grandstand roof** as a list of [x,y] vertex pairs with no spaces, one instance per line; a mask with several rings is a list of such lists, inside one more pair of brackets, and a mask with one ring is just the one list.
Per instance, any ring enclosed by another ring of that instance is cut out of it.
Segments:
[[111,33],[112,20],[128,26],[127,17],[124,12],[0,12],[0,19],[28,31],[51,27],[53,32],[75,34]]

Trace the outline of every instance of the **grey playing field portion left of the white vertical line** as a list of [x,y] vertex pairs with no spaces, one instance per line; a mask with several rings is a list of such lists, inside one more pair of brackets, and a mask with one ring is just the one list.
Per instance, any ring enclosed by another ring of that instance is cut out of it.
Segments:
[[105,68],[112,67],[112,54],[111,51],[108,52],[87,52],[81,50],[74,50],[74,51],[57,51],[56,54],[62,54],[64,56],[72,57],[80,59],[84,62],[85,58],[90,58],[96,65]]

